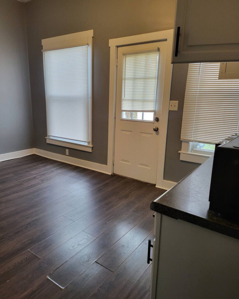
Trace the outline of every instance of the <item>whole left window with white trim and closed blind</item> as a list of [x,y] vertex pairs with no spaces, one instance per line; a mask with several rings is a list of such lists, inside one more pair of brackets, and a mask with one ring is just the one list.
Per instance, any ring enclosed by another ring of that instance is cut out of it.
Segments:
[[86,33],[43,40],[43,64],[47,142],[91,152],[92,36]]

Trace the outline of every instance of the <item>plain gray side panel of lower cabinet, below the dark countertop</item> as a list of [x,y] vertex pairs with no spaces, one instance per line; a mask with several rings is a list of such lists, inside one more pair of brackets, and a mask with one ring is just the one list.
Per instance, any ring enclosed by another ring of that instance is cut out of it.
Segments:
[[238,299],[239,240],[155,213],[151,299]]

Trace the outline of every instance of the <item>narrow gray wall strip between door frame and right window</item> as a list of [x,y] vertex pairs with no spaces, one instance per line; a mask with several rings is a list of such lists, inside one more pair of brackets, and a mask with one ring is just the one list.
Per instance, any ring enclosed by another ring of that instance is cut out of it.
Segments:
[[174,64],[172,74],[171,98],[178,101],[178,111],[169,111],[164,179],[178,182],[200,164],[180,160],[182,147],[181,126],[184,109],[188,64]]

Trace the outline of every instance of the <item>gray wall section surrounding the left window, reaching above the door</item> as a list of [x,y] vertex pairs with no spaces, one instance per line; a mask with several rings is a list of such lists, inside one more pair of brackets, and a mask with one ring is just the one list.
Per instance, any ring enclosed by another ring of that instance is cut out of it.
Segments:
[[41,39],[94,30],[93,152],[69,149],[70,156],[107,164],[109,39],[173,28],[175,0],[33,0],[26,4],[35,146],[65,155],[46,144],[46,106]]

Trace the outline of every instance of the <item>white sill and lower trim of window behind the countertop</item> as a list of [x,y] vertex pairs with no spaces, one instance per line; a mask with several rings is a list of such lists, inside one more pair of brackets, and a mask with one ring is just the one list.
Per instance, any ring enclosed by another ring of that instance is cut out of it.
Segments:
[[190,141],[182,141],[182,149],[179,151],[181,161],[202,164],[213,155],[213,152],[209,154],[191,152],[190,143]]

